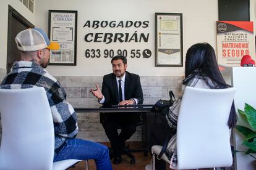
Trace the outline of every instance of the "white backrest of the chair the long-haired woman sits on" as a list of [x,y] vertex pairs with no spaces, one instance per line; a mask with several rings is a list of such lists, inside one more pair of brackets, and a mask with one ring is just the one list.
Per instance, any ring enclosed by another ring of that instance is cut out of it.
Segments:
[[228,118],[235,92],[186,87],[177,121],[177,169],[231,166]]

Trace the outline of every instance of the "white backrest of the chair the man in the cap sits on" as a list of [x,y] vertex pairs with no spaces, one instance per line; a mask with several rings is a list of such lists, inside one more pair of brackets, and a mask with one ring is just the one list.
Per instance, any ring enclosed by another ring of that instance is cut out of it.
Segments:
[[45,89],[0,89],[0,113],[0,169],[52,169],[54,127]]

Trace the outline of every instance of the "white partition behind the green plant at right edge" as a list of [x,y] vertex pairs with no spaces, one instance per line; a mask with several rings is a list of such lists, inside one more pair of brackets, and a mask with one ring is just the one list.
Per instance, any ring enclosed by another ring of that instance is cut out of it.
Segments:
[[[256,92],[253,90],[255,89],[255,74],[256,68],[255,67],[233,67],[232,69],[232,85],[236,88],[236,95],[234,97],[234,104],[237,109],[244,110],[244,103],[248,103],[252,107],[256,107],[255,102],[255,95]],[[246,76],[245,76],[246,75]],[[250,79],[248,79],[250,78]],[[246,83],[245,83],[246,82]],[[251,128],[247,121],[241,117],[239,113],[237,113],[237,124]],[[234,133],[234,150],[239,151],[247,151],[247,147],[242,144],[244,140],[244,136],[235,131]],[[252,154],[256,156],[255,154]],[[236,158],[236,169],[247,169],[253,170],[255,166],[252,164],[255,161],[249,155],[244,155],[242,152],[237,152],[235,154]]]

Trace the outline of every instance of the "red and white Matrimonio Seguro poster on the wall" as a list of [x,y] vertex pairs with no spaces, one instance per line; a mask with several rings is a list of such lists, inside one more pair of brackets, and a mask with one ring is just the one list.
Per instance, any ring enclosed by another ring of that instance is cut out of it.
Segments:
[[254,23],[218,21],[218,64],[225,67],[240,67],[244,55],[255,60]]

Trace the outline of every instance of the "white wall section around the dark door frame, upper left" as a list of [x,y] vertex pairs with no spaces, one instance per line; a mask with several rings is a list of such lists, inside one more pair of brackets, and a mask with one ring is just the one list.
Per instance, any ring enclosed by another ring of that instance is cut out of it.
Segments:
[[8,5],[17,10],[29,22],[34,24],[35,16],[30,10],[25,7],[19,0],[2,0],[0,1],[0,68],[6,69],[6,55],[7,55],[7,33],[8,33]]

